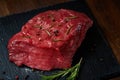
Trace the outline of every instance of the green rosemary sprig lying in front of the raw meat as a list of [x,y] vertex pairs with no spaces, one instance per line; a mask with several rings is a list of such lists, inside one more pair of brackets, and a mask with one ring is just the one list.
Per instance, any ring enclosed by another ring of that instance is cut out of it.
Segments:
[[75,80],[78,75],[81,62],[82,62],[82,58],[80,59],[79,63],[77,63],[75,66],[73,66],[69,69],[65,69],[65,70],[55,73],[53,75],[41,75],[42,80],[54,80],[54,79],[57,80],[60,77],[62,78],[66,75],[69,75],[66,78],[66,80]]

